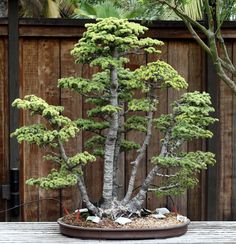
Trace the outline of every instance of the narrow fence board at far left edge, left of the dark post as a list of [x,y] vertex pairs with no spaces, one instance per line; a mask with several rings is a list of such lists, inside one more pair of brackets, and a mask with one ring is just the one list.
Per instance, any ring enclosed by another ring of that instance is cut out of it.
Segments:
[[[8,181],[8,78],[7,78],[7,43],[0,39],[0,184]],[[7,208],[7,201],[0,199],[0,210]],[[0,221],[7,219],[7,213],[0,214]]]

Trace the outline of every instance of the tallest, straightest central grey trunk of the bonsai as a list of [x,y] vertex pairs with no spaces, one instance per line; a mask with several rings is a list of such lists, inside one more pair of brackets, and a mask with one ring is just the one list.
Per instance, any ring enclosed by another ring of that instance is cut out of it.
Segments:
[[[118,52],[114,49],[113,58],[118,57]],[[111,98],[110,104],[118,106],[118,77],[117,69],[112,67],[111,73]],[[109,208],[112,202],[113,192],[113,171],[114,171],[114,157],[117,143],[117,133],[119,129],[119,113],[114,112],[110,120],[110,128],[108,130],[107,139],[105,142],[105,155],[104,155],[104,178],[103,178],[103,208]]]

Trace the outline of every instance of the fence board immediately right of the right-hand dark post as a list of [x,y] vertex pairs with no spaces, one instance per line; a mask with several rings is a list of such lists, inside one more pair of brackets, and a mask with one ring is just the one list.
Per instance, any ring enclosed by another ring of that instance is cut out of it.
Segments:
[[[232,56],[232,44],[227,43],[229,55]],[[220,184],[218,217],[231,220],[232,203],[232,118],[233,94],[231,89],[220,81]]]

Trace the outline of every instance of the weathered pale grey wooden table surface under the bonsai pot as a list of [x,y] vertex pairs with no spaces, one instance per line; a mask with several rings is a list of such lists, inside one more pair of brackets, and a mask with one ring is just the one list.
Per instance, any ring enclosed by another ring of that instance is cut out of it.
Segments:
[[236,243],[236,221],[194,221],[180,237],[151,240],[81,240],[63,236],[55,222],[0,222],[0,243]]

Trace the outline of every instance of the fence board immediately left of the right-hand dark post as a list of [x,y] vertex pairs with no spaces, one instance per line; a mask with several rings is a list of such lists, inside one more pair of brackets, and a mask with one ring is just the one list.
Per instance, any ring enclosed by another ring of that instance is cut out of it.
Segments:
[[[189,43],[188,56],[188,91],[202,91],[203,89],[203,52],[201,47],[196,43]],[[204,150],[202,140],[194,140],[188,143],[188,151]],[[204,191],[205,172],[198,174],[199,184],[188,190],[188,217],[191,220],[202,218],[202,209],[205,208],[202,201],[202,192]]]

